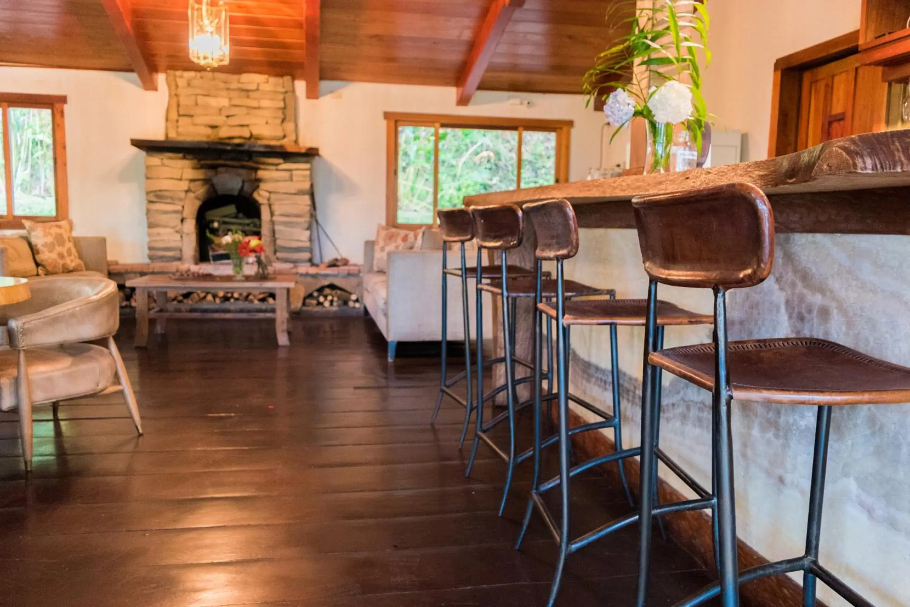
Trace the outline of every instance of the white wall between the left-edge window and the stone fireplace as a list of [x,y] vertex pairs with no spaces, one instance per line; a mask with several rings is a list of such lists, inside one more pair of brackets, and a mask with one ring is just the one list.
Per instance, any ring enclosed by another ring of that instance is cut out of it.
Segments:
[[66,95],[69,212],[76,234],[106,236],[108,258],[146,260],[145,155],[129,140],[164,137],[167,86],[133,74],[0,67],[0,91]]

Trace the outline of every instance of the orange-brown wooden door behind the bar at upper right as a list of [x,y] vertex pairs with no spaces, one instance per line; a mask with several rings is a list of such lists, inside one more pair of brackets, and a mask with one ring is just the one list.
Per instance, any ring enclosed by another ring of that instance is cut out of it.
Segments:
[[854,132],[854,93],[859,56],[806,70],[800,96],[799,149]]

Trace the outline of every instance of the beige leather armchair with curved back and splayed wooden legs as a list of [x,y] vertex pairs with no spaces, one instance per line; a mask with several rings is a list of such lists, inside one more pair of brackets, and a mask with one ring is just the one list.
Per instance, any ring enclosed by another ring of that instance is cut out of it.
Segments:
[[[9,349],[0,349],[0,410],[19,410],[25,470],[32,466],[32,406],[123,392],[142,434],[136,397],[114,334],[120,325],[116,283],[100,277],[30,281],[32,298],[0,308]],[[86,343],[105,340],[106,347]]]

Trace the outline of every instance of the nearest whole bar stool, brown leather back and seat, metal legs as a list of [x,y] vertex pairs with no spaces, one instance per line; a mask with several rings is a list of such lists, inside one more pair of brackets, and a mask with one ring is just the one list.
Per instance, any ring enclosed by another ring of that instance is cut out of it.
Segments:
[[[872,607],[818,561],[824,478],[832,406],[895,404],[910,401],[910,369],[873,359],[824,339],[784,338],[728,341],[726,295],[749,288],[771,273],[774,219],[767,197],[748,184],[731,184],[679,194],[639,197],[632,201],[644,268],[651,278],[648,294],[649,336],[653,336],[657,285],[711,288],[714,292],[712,343],[651,352],[648,376],[656,369],[712,393],[714,550],[720,581],[677,603],[692,607],[720,597],[724,607],[739,604],[739,584],[767,575],[803,572],[803,604],[815,604],[819,580],[856,607]],[[645,340],[646,343],[649,341]],[[649,382],[645,380],[645,387]],[[648,398],[653,397],[653,389]],[[809,491],[805,552],[743,572],[736,555],[733,491],[732,400],[804,405],[817,408],[814,461]],[[647,403],[644,400],[642,406]],[[651,401],[653,404],[653,401]],[[655,408],[642,410],[642,433],[654,432]],[[642,451],[642,517],[656,486],[651,450]],[[651,530],[641,527],[642,562],[638,604],[645,604]],[[895,572],[896,573],[896,572]]]

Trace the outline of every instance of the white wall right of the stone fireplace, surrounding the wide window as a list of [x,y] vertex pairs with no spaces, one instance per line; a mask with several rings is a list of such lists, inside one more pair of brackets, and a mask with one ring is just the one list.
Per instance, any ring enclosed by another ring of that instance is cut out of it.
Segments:
[[[319,100],[307,100],[305,85],[298,82],[300,143],[319,147],[314,172],[319,220],[341,254],[356,262],[363,257],[363,241],[386,220],[384,112],[570,119],[575,127],[569,177],[584,179],[599,162],[603,116],[585,108],[580,95],[480,92],[470,106],[460,107],[455,90],[443,86],[323,82],[321,91]],[[510,96],[530,100],[531,107],[510,105]],[[326,258],[335,256],[325,238],[322,250]]]

